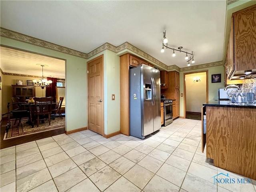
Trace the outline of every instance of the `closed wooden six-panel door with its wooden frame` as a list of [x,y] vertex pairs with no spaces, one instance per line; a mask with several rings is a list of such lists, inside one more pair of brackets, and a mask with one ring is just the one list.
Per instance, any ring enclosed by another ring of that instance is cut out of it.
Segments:
[[104,136],[103,55],[87,62],[88,129]]

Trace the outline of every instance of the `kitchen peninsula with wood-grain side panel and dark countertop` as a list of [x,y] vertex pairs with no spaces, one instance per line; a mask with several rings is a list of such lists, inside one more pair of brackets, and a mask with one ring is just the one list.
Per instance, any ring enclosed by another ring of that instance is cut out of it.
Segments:
[[203,104],[202,151],[214,166],[256,180],[256,104],[211,100]]

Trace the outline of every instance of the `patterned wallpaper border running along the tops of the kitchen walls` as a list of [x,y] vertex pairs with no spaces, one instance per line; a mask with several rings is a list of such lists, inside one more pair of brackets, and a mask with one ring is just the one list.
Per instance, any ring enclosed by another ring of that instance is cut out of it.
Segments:
[[[202,65],[196,65],[196,66],[190,66],[190,67],[185,67],[185,68],[179,68],[176,65],[171,65],[171,66],[167,66],[166,64],[160,62],[159,60],[157,60],[156,58],[150,56],[149,54],[147,54],[146,52],[136,48],[135,46],[133,46],[132,44],[128,43],[128,42],[124,42],[123,44],[119,45],[119,46],[114,46],[108,42],[104,43],[103,45],[99,46],[98,48],[92,50],[91,52],[89,52],[88,54],[80,52],[80,51],[76,51],[64,46],[60,46],[51,42],[47,42],[44,40],[40,40],[38,38],[34,38],[25,34],[21,34],[12,30],[8,30],[5,28],[0,28],[0,36],[6,37],[6,38],[10,38],[10,39],[14,39],[17,41],[21,41],[21,42],[25,42],[28,44],[32,44],[35,46],[40,46],[43,48],[48,48],[51,50],[55,50],[58,52],[62,52],[65,54],[70,54],[70,55],[74,55],[74,56],[78,56],[81,58],[91,58],[92,56],[104,51],[104,50],[110,50],[112,52],[118,53],[121,52],[123,50],[130,50],[132,52],[135,52],[136,54],[138,54],[139,56],[142,56],[144,58],[146,58],[147,60],[149,60],[150,62],[152,62],[153,64],[162,67],[164,70],[167,71],[171,71],[171,70],[176,70],[178,72],[180,71],[186,71],[186,70],[194,70],[194,69],[200,69],[200,68],[206,68],[206,67],[213,67],[213,66],[218,66],[218,65],[222,65],[222,61],[220,62],[213,62],[213,63],[208,63],[208,64],[202,64]],[[17,74],[17,76],[20,76],[20,74]],[[35,77],[36,76],[32,76]]]

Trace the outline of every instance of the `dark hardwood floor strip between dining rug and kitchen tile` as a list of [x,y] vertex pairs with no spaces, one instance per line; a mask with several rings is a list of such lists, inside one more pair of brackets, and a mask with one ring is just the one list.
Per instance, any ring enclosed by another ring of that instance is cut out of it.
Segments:
[[5,126],[2,126],[3,124],[4,120],[0,127],[0,149],[65,133],[65,128],[59,128],[4,140]]

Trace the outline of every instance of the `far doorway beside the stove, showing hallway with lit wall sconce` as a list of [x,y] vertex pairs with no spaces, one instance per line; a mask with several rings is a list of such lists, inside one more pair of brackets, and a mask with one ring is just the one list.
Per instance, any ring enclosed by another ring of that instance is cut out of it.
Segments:
[[184,73],[184,118],[201,120],[202,104],[208,101],[208,70]]

